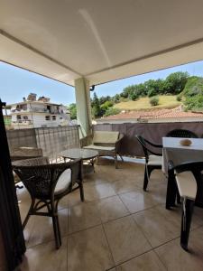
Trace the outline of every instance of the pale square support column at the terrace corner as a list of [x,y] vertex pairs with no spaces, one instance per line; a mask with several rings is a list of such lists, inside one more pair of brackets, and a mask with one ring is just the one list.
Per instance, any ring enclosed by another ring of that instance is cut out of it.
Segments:
[[79,78],[75,80],[76,107],[78,124],[81,127],[80,136],[91,134],[92,118],[90,105],[90,92],[88,79]]

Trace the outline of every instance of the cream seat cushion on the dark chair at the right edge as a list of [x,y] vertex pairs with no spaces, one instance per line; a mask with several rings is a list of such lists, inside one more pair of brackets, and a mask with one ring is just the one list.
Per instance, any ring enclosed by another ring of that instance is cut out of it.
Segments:
[[180,192],[180,197],[195,200],[197,194],[197,182],[191,172],[176,174],[176,182]]

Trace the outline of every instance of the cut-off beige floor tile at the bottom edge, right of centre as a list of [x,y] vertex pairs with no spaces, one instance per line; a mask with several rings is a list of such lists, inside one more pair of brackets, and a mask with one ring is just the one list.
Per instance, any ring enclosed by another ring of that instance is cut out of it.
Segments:
[[139,257],[125,262],[125,264],[116,267],[116,271],[164,271],[166,268],[162,265],[159,257],[153,252],[147,252]]

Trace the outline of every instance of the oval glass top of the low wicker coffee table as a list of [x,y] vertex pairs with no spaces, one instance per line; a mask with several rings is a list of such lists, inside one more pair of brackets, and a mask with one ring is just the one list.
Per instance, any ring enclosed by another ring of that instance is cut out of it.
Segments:
[[80,148],[73,148],[69,150],[65,150],[60,153],[60,156],[66,157],[69,159],[78,159],[81,158],[83,160],[88,160],[97,157],[98,152],[95,150],[89,149],[80,149]]

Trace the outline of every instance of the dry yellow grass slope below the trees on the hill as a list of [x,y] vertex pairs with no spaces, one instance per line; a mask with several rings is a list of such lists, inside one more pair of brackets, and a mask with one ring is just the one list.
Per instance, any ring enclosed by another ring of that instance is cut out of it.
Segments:
[[152,107],[150,104],[150,98],[144,97],[139,98],[138,100],[129,100],[125,102],[120,102],[115,105],[116,108],[121,110],[149,110],[149,109],[157,109],[157,108],[172,108],[178,107],[181,102],[176,100],[176,96],[171,95],[162,95],[159,96],[160,101],[159,105]]

